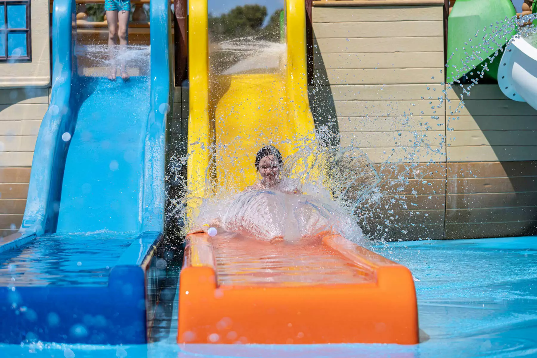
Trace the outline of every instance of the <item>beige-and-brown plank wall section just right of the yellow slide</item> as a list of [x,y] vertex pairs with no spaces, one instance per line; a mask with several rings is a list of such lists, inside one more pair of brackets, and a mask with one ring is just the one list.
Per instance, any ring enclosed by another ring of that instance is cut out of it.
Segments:
[[383,195],[362,228],[375,238],[442,238],[443,2],[315,5],[314,116],[337,118],[341,144],[360,147],[374,163],[398,163],[383,170],[377,165]]

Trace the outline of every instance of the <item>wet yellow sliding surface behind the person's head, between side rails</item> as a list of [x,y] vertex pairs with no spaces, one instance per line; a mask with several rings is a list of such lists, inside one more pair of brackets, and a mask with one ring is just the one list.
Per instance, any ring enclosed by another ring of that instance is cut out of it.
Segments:
[[287,119],[285,78],[281,74],[215,76],[213,98],[218,185],[244,189],[257,179],[257,151],[269,143],[285,158],[292,152],[294,127]]

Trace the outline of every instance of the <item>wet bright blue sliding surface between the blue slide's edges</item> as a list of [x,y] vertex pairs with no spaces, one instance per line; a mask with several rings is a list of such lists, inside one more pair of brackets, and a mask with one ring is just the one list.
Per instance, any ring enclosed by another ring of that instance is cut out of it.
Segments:
[[75,92],[82,103],[67,152],[57,232],[138,230],[149,78],[80,82]]

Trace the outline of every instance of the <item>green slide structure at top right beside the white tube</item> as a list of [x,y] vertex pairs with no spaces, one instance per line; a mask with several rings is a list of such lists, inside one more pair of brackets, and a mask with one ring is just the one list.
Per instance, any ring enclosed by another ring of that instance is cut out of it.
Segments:
[[[477,71],[483,71],[483,78],[497,81],[502,57],[499,47],[505,47],[517,33],[512,21],[516,14],[511,0],[457,0],[448,18],[447,82],[466,74],[479,81]],[[499,55],[491,62],[496,51]],[[485,62],[488,71],[483,70]]]

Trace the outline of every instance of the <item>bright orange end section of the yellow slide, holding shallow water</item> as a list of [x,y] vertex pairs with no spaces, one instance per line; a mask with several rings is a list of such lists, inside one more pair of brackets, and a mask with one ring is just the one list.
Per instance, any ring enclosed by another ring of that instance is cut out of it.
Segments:
[[186,240],[178,343],[418,343],[409,269],[341,236]]

